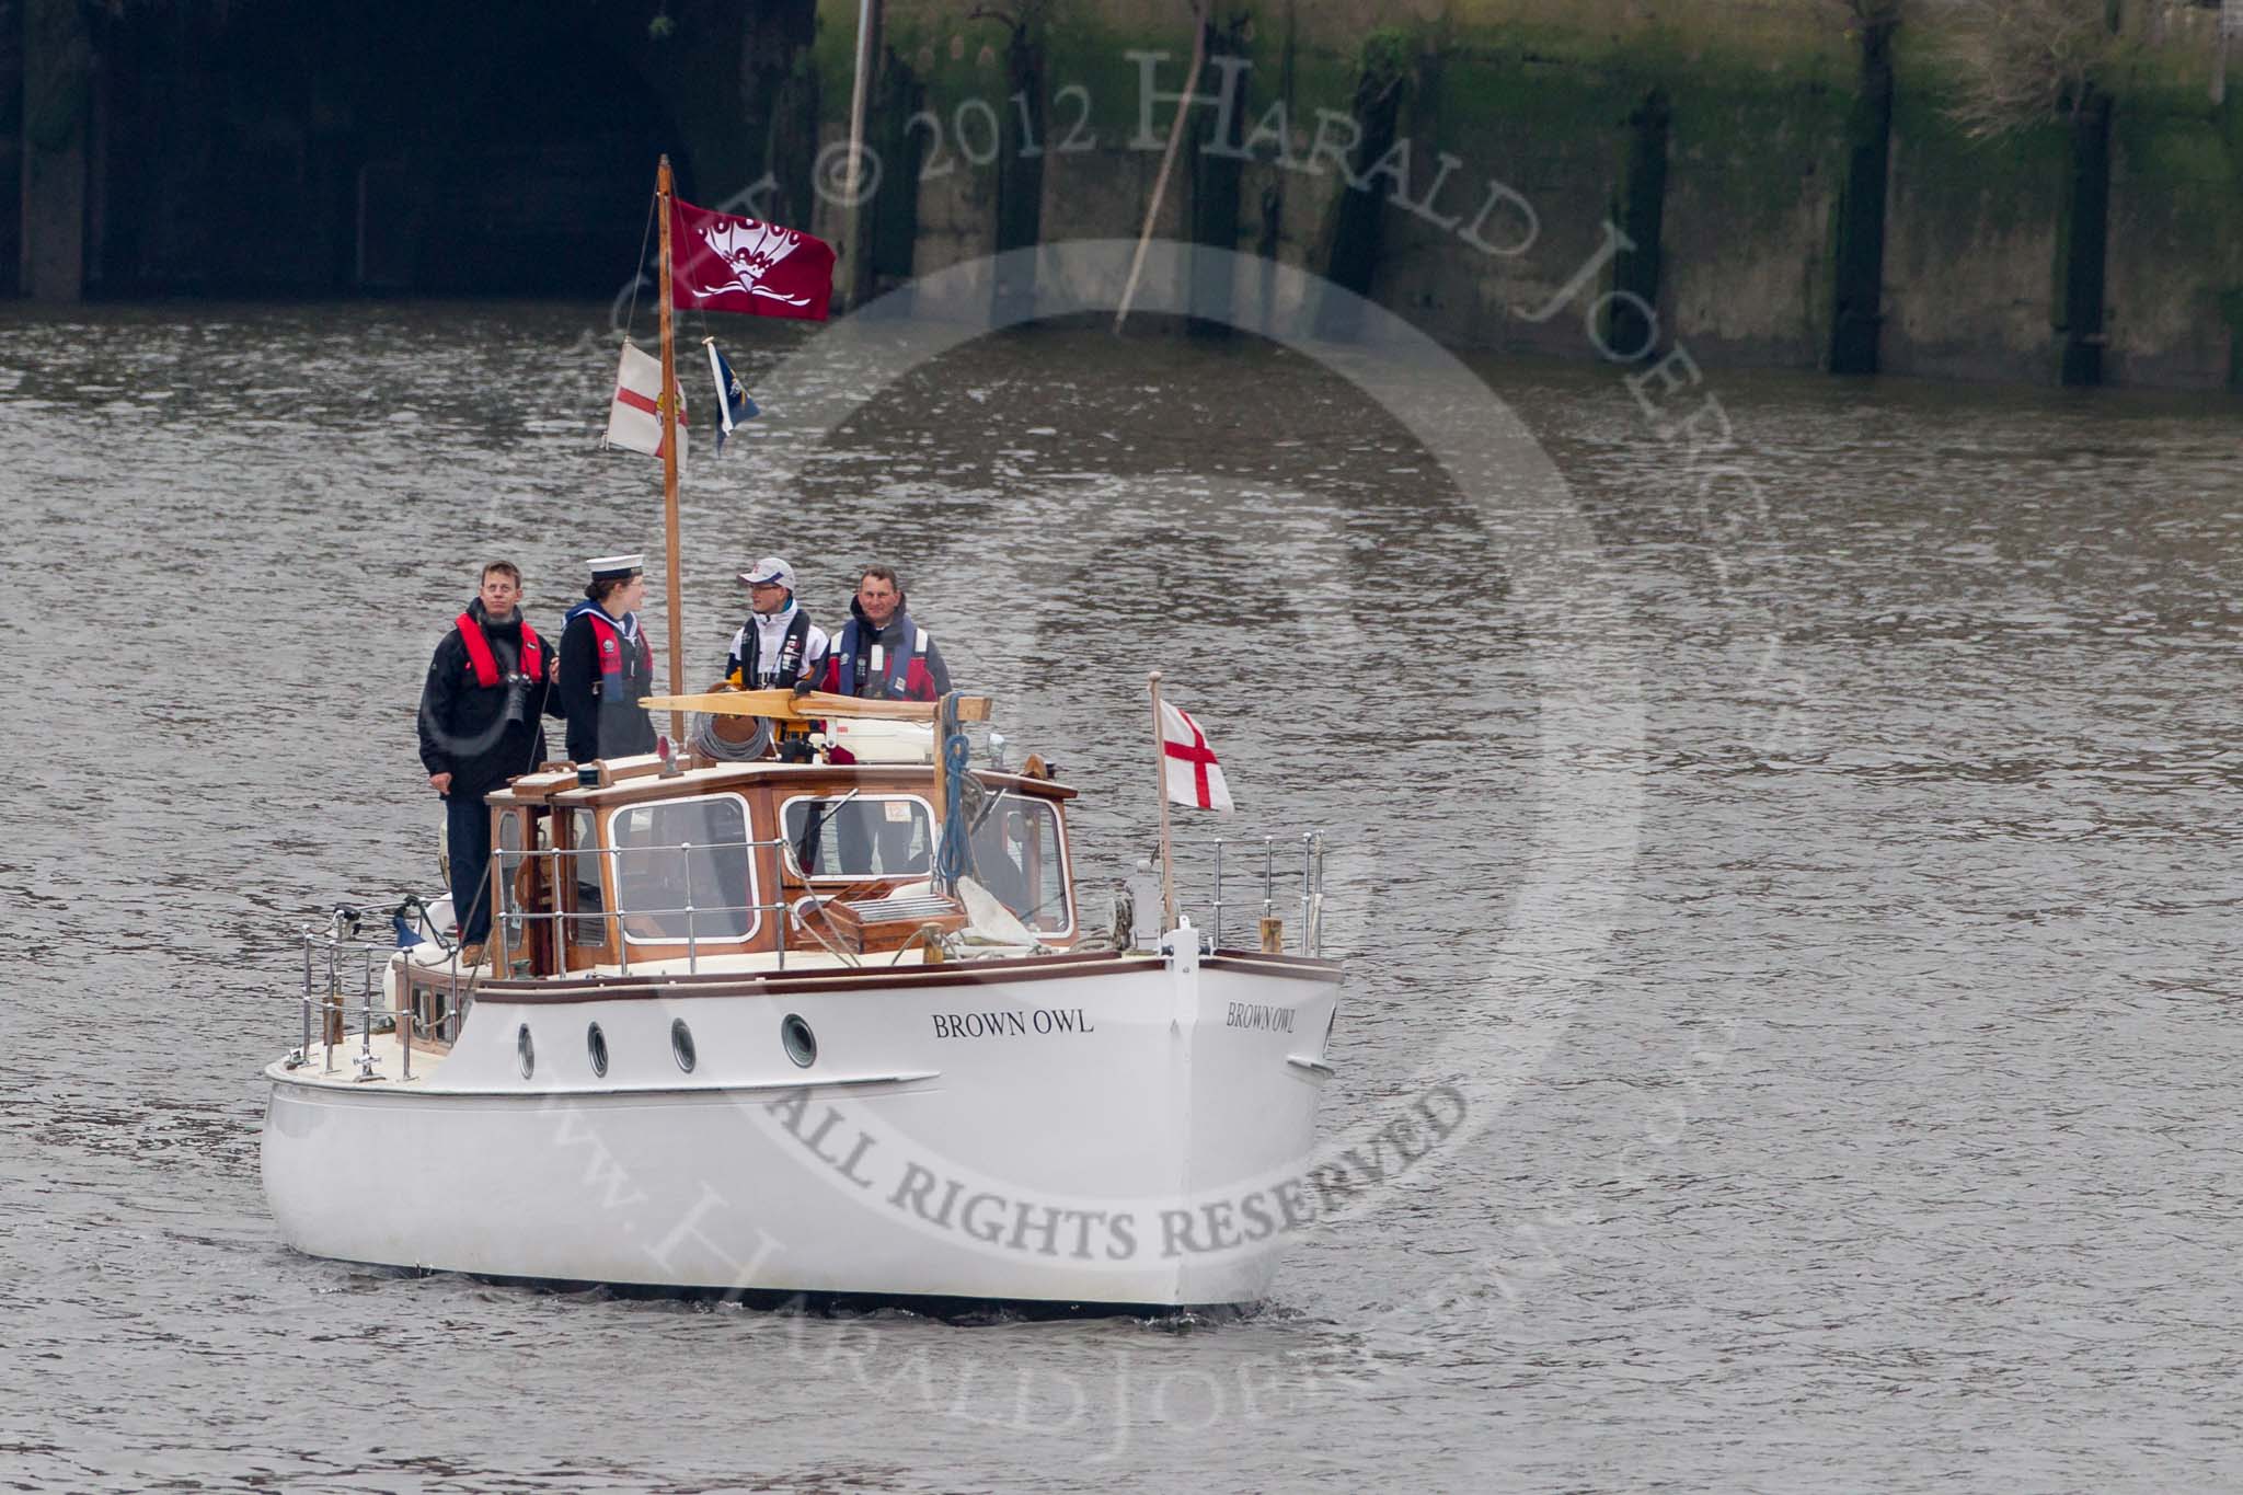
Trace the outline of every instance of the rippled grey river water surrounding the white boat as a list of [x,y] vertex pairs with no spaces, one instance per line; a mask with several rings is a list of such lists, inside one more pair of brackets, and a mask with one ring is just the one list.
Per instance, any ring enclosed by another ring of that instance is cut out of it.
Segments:
[[[294,1042],[289,930],[433,881],[428,650],[487,556],[556,628],[579,558],[659,547],[653,464],[592,451],[603,327],[0,312],[0,1486],[2243,1482],[2223,401],[1711,374],[1736,446],[1691,462],[1615,370],[1478,363],[1566,480],[1561,585],[1501,498],[1261,343],[1005,334],[785,491],[776,424],[695,451],[695,681],[738,563],[790,556],[834,619],[890,558],[1088,789],[1110,883],[1166,670],[1240,829],[1332,836],[1326,1132],[1438,1085],[1471,1125],[1238,1322],[294,1255],[258,1071]],[[733,336],[781,421],[810,334]]]

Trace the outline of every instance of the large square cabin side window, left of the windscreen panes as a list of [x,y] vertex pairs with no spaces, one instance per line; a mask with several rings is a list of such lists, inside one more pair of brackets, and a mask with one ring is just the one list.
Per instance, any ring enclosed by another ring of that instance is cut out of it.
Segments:
[[608,816],[608,843],[630,944],[729,944],[756,932],[756,863],[738,793],[626,805]]

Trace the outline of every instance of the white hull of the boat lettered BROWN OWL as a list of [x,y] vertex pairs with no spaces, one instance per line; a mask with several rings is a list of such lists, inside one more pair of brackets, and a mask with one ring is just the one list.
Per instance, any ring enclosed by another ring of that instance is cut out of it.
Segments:
[[426,1078],[276,1065],[265,1186],[289,1244],[352,1262],[1249,1304],[1301,1224],[1335,993],[1323,962],[1189,953],[487,991]]

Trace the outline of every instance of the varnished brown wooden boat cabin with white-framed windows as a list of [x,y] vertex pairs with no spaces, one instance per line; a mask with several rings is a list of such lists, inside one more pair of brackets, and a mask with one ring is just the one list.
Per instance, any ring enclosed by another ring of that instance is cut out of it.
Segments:
[[[1036,944],[1072,946],[1074,789],[973,778],[973,881]],[[619,758],[523,776],[487,802],[500,979],[846,962],[964,923],[929,885],[942,802],[924,764]]]

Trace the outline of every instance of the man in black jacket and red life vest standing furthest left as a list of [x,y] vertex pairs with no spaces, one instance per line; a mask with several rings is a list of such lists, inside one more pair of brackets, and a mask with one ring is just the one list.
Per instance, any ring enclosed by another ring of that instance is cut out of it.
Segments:
[[523,574],[482,567],[482,587],[435,646],[422,686],[419,746],[428,787],[444,796],[451,910],[462,959],[482,959],[491,935],[491,811],[482,796],[545,758],[541,715],[561,715],[554,654],[523,616]]

